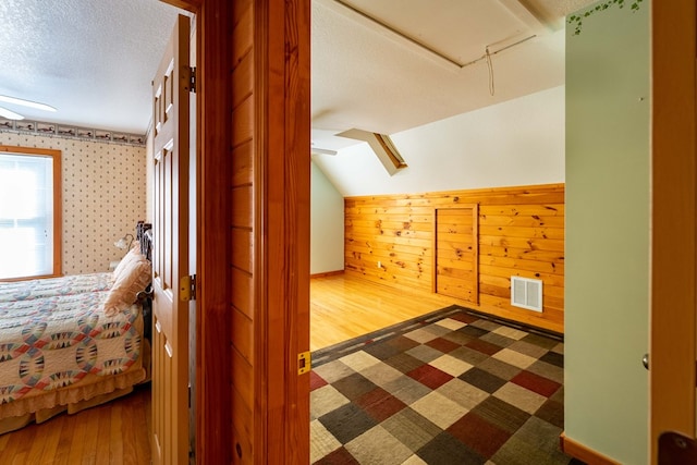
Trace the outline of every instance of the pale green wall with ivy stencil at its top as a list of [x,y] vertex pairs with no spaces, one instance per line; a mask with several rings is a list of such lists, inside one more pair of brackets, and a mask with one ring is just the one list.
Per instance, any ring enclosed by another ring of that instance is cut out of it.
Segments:
[[648,463],[650,2],[566,38],[566,437]]

